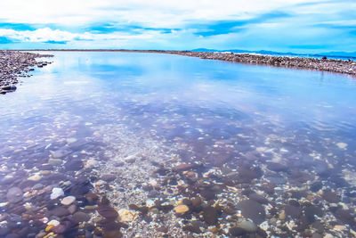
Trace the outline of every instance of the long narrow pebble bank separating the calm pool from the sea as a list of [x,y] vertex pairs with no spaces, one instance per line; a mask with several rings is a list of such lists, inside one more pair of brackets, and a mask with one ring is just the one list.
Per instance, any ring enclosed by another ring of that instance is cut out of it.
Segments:
[[134,52],[134,53],[169,53],[183,56],[198,57],[204,60],[223,62],[239,62],[252,65],[269,65],[300,70],[320,70],[356,76],[356,62],[349,60],[302,58],[289,56],[274,56],[251,53],[218,53],[218,52],[192,52],[192,51],[162,51],[162,50],[20,50],[20,51],[58,51],[58,52]]

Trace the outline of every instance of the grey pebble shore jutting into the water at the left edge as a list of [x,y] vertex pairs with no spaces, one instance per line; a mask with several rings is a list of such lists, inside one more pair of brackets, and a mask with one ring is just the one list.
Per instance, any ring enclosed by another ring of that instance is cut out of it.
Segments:
[[42,68],[51,62],[37,62],[36,58],[52,57],[50,54],[25,53],[19,51],[0,51],[0,94],[16,90],[19,77],[30,77],[32,67]]

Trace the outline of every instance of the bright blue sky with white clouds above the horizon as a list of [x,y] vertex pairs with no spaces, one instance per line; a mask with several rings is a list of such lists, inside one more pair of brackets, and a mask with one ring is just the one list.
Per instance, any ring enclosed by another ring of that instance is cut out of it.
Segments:
[[356,51],[356,0],[1,0],[0,49]]

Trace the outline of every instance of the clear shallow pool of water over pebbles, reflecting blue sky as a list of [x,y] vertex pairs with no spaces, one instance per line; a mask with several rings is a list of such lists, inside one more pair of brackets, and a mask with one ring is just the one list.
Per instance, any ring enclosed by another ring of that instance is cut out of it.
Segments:
[[0,99],[1,237],[352,237],[356,80],[54,53]]

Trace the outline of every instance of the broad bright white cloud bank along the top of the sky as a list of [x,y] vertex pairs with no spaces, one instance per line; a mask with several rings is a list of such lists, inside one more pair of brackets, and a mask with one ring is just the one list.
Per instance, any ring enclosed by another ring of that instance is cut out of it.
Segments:
[[246,19],[261,12],[318,0],[1,0],[8,22],[80,26],[97,21],[177,27],[187,21]]

